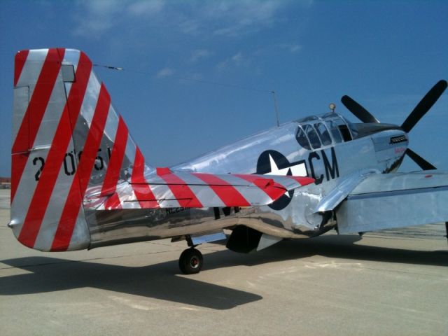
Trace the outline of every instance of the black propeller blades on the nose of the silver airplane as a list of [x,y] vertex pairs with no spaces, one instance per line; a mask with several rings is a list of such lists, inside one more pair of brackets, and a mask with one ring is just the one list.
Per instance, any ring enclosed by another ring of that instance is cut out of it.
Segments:
[[[405,122],[402,123],[400,128],[404,132],[409,133],[412,128],[414,128],[416,123],[418,123],[419,120],[430,110],[430,108],[433,107],[435,102],[437,102],[437,99],[439,99],[444,90],[447,89],[447,86],[448,85],[446,80],[439,80],[433,87],[431,87],[428,93],[425,94],[425,97],[423,97],[419,104],[415,106],[414,110],[409,113],[409,116],[407,116]],[[351,99],[351,97],[345,95],[341,98],[341,102],[351,113],[353,113],[354,116],[356,116],[363,123],[380,123],[379,120],[372,115],[372,113],[358,104],[358,102],[355,102],[353,99]],[[410,148],[406,149],[405,154],[409,156],[409,158],[411,158],[423,170],[436,169],[433,165],[430,164],[430,162],[421,158],[420,155],[412,151],[412,149]]]

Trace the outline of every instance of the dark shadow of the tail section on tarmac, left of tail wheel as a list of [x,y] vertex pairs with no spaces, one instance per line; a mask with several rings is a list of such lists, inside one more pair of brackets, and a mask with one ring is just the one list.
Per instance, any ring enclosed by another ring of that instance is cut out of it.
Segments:
[[232,309],[261,300],[260,295],[177,276],[177,260],[145,267],[107,265],[48,257],[27,257],[1,262],[32,273],[0,278],[0,295],[23,295],[100,288],[153,297],[211,309]]

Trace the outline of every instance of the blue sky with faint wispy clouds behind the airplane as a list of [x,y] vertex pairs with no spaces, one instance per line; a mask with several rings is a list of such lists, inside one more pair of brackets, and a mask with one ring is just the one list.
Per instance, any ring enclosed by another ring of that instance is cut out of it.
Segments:
[[[357,121],[349,94],[401,125],[448,79],[447,18],[448,1],[0,1],[0,176],[18,50],[77,48],[123,67],[96,72],[146,161],[169,166],[274,126],[271,90],[282,123],[330,102]],[[448,170],[447,132],[445,92],[410,147]]]

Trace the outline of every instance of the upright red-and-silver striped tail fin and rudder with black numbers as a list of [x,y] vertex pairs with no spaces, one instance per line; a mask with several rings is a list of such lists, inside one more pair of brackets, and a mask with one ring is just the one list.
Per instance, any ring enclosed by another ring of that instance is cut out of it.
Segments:
[[134,161],[149,169],[84,52],[15,55],[10,226],[22,244],[87,248],[87,188],[114,194]]

